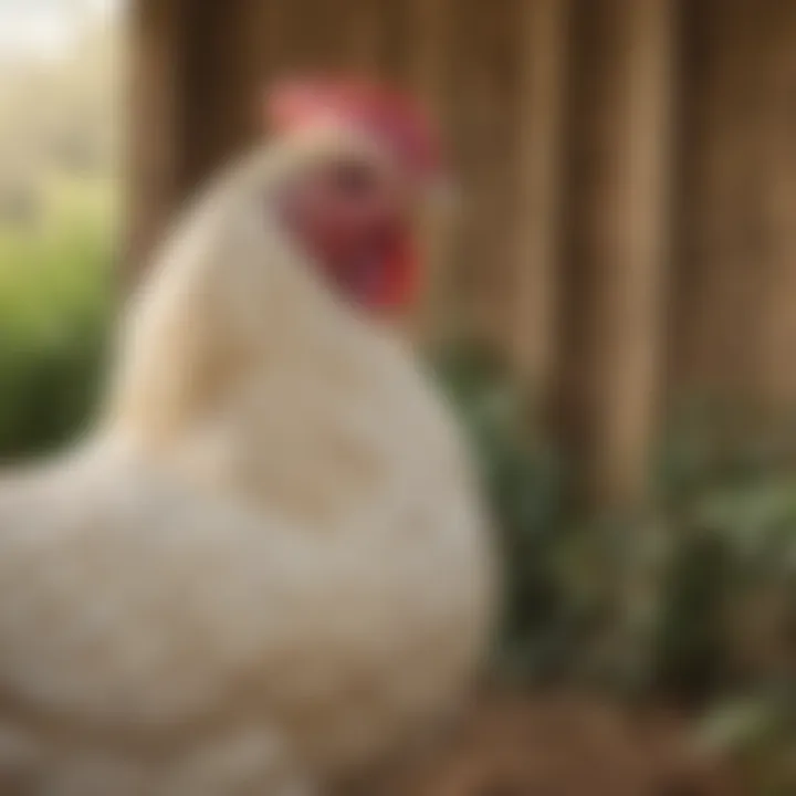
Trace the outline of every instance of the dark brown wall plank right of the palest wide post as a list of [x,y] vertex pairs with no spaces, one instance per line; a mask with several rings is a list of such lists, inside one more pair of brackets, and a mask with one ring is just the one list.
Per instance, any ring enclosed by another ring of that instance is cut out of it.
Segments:
[[684,6],[670,367],[679,399],[756,392],[767,260],[765,7],[777,3]]

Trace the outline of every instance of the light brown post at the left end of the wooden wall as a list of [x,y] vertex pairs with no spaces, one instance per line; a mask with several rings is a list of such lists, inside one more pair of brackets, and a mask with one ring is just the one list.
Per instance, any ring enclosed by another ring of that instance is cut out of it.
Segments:
[[137,0],[129,20],[129,281],[161,237],[184,176],[185,0]]

